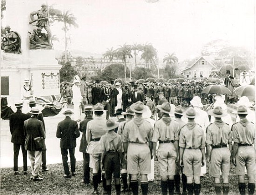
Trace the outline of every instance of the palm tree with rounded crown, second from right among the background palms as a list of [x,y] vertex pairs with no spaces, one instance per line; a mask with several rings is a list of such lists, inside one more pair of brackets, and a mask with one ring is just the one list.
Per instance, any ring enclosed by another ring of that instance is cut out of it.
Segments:
[[145,60],[146,67],[149,67],[149,63],[154,63],[155,59],[157,58],[156,49],[152,46],[151,43],[143,44],[141,47],[141,59]]

